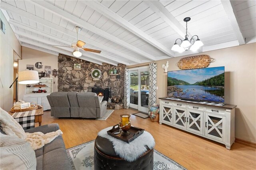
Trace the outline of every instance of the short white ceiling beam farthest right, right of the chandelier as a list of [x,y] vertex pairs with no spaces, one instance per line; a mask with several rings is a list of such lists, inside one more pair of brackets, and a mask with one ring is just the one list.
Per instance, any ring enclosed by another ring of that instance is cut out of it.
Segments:
[[240,45],[245,44],[244,35],[239,27],[238,21],[237,21],[237,14],[236,9],[234,8],[233,3],[230,0],[221,0],[222,6],[230,19],[230,23],[232,25],[233,31],[236,35],[236,38]]

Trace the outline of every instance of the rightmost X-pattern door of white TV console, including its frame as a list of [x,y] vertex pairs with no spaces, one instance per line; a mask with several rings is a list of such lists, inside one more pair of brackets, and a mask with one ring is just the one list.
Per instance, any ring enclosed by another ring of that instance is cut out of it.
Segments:
[[213,139],[216,139],[218,141],[225,142],[226,117],[221,115],[206,113],[205,120],[206,120],[205,135]]

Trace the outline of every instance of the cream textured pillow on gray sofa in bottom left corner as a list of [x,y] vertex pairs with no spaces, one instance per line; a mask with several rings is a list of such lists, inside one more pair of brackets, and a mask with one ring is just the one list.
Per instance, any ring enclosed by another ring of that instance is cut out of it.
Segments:
[[0,136],[1,169],[36,169],[36,155],[27,141],[9,135]]

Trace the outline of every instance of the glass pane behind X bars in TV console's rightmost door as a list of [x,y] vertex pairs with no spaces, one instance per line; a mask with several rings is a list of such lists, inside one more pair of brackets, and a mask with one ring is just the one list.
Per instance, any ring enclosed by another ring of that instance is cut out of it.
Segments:
[[[222,122],[221,121],[222,121],[221,118],[208,116],[208,134],[209,135],[222,138]],[[212,131],[210,131],[210,129],[212,129]]]

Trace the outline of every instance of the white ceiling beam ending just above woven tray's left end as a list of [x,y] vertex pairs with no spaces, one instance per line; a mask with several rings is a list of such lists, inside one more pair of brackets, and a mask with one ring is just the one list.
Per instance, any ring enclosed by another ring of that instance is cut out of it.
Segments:
[[174,57],[175,54],[173,51],[171,51],[170,49],[168,49],[167,47],[165,47],[164,45],[162,45],[161,43],[159,43],[158,41],[156,41],[155,39],[150,37],[144,31],[142,31],[141,29],[139,29],[138,27],[136,27],[129,21],[125,20],[124,18],[122,18],[121,16],[119,16],[118,14],[116,14],[115,12],[113,12],[112,10],[110,10],[109,8],[107,8],[106,6],[101,4],[100,2],[98,2],[98,1],[83,1],[83,3],[88,5],[89,7],[93,8],[97,12],[100,12],[102,15],[108,17],[110,20],[116,22],[118,25],[121,25],[122,27],[124,27],[125,29],[130,31],[131,33],[137,35],[138,37],[140,37],[147,43],[153,45],[154,47],[156,47],[157,49],[159,49],[166,55],[168,55],[170,57]]

